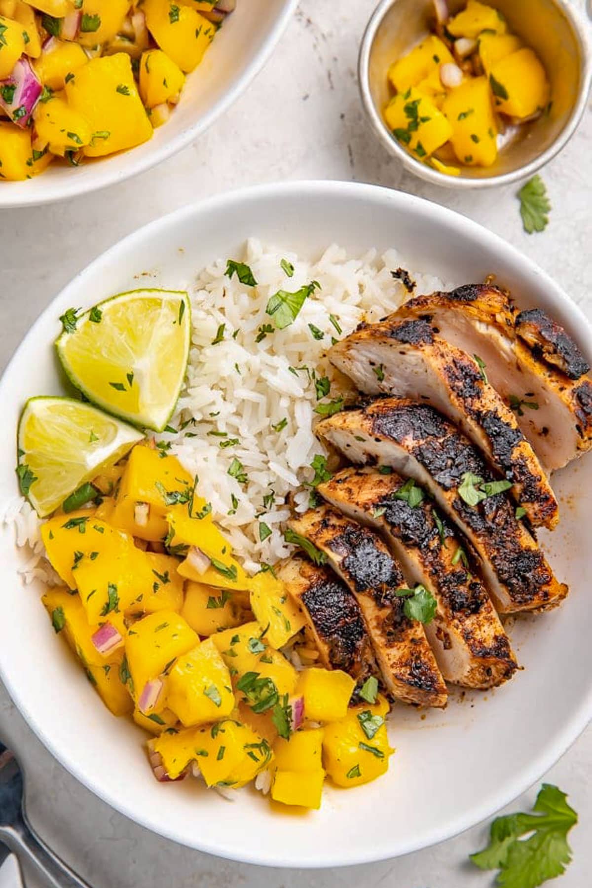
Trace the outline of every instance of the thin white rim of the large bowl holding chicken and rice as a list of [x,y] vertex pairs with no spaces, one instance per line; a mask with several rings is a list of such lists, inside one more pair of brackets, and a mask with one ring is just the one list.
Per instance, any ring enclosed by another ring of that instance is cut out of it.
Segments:
[[[522,266],[526,272],[536,276],[541,284],[549,289],[549,292],[553,294],[553,297],[563,306],[564,313],[568,316],[570,324],[573,327],[580,329],[580,335],[582,337],[588,337],[589,343],[592,344],[592,325],[590,325],[586,315],[581,311],[579,306],[572,302],[556,281],[537,266],[532,259],[526,257],[511,243],[505,241],[499,234],[494,234],[485,228],[485,226],[479,225],[478,222],[474,222],[472,219],[463,216],[462,213],[455,210],[449,210],[447,207],[436,202],[428,201],[425,198],[416,197],[414,194],[407,194],[404,191],[385,186],[327,179],[295,180],[290,182],[275,182],[266,185],[248,186],[224,194],[217,194],[206,201],[189,204],[163,216],[162,218],[154,219],[147,225],[138,228],[135,232],[122,238],[121,241],[114,243],[113,246],[108,248],[108,250],[105,250],[97,258],[93,259],[83,271],[76,274],[72,281],[70,281],[66,287],[61,289],[51,300],[50,304],[43,309],[43,312],[29,329],[28,334],[21,340],[20,345],[12,355],[11,361],[4,370],[4,374],[0,377],[0,402],[5,396],[5,387],[7,385],[6,379],[10,375],[13,364],[20,360],[23,352],[27,351],[29,338],[35,336],[36,330],[43,327],[43,323],[48,317],[54,317],[55,311],[53,305],[55,305],[56,301],[61,297],[68,295],[70,289],[80,287],[83,284],[84,279],[89,274],[92,274],[95,269],[100,269],[101,266],[108,265],[113,258],[121,252],[124,252],[130,245],[142,242],[146,236],[150,236],[154,231],[169,226],[176,226],[182,223],[185,218],[190,218],[194,213],[207,215],[210,210],[220,210],[224,208],[232,210],[233,205],[237,202],[260,202],[269,198],[277,198],[278,195],[284,195],[288,198],[291,196],[302,198],[303,194],[320,194],[328,199],[331,199],[334,196],[349,196],[352,198],[363,196],[369,202],[390,202],[393,210],[396,210],[398,206],[401,209],[405,209],[406,205],[407,207],[411,205],[421,210],[426,217],[430,217],[434,222],[439,222],[449,228],[454,228],[457,234],[461,237],[474,237],[476,231],[478,231],[485,244],[490,245],[493,250],[505,253],[511,260]],[[590,347],[592,347],[592,345]],[[1,658],[0,678],[2,678],[4,686],[10,694],[12,701],[15,702],[17,709],[20,711],[23,718],[25,718],[33,733],[35,733],[37,738],[43,743],[43,746],[51,752],[51,755],[59,761],[59,764],[66,768],[77,781],[82,783],[87,789],[90,789],[95,796],[99,797],[107,805],[110,805],[115,811],[126,816],[130,821],[138,823],[145,829],[149,829],[151,832],[164,836],[173,842],[185,844],[179,840],[177,835],[175,835],[174,830],[167,828],[166,824],[162,822],[155,824],[154,819],[151,819],[146,813],[141,812],[138,814],[137,812],[134,812],[129,804],[122,804],[121,801],[115,801],[109,792],[100,787],[97,781],[86,780],[77,773],[75,765],[67,760],[67,756],[62,755],[58,749],[55,749],[51,737],[48,737],[45,734],[43,725],[38,723],[36,716],[29,710],[21,708],[20,704],[17,703],[20,694],[18,693],[17,687],[7,680],[7,676],[4,674],[2,668]],[[497,791],[490,797],[487,797],[485,801],[471,808],[470,812],[465,811],[459,813],[455,815],[454,818],[443,822],[440,829],[432,830],[427,838],[424,836],[419,840],[416,839],[408,842],[404,848],[401,848],[396,852],[395,856],[400,857],[404,854],[421,851],[423,848],[429,848],[431,845],[444,842],[446,839],[457,836],[466,829],[470,829],[478,823],[485,821],[494,813],[500,811],[505,805],[509,805],[523,792],[533,786],[533,783],[540,780],[544,773],[549,771],[549,768],[564,755],[564,752],[566,752],[570,746],[572,746],[572,743],[580,736],[580,733],[582,733],[588,725],[588,722],[591,720],[592,683],[588,688],[588,694],[582,698],[578,708],[574,709],[572,717],[569,720],[566,720],[562,728],[557,731],[554,742],[551,744],[548,742],[548,745],[543,747],[536,757],[533,757],[531,765],[527,770],[517,773],[512,781],[507,781],[502,784]],[[282,858],[278,850],[272,850],[265,856],[263,849],[254,848],[249,856],[244,854],[239,856],[233,850],[232,844],[228,844],[225,838],[223,838],[220,844],[217,844],[216,846],[213,846],[212,844],[199,844],[198,842],[187,846],[193,847],[197,851],[224,858],[225,860],[236,860],[241,863],[250,863],[257,866],[291,868],[295,865],[293,860]],[[374,863],[379,860],[388,860],[392,857],[392,848],[383,845],[380,848],[368,849],[366,853],[354,852],[351,856],[347,856],[347,854],[343,855],[343,851],[339,854],[331,851],[328,856],[323,856],[322,858],[310,857],[305,860],[299,860],[298,867],[303,869],[344,867],[353,866],[355,864]]]

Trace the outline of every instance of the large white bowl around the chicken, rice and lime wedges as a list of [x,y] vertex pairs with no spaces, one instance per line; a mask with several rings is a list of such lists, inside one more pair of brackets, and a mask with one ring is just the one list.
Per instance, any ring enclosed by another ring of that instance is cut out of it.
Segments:
[[[434,203],[375,186],[288,183],[227,194],[159,219],[108,250],[55,299],[20,345],[0,383],[0,497],[14,496],[15,428],[28,396],[60,392],[52,341],[70,305],[138,286],[191,285],[212,258],[239,258],[256,234],[318,256],[330,242],[356,253],[397,246],[411,268],[458,283],[496,274],[521,305],[541,305],[592,357],[585,318],[561,289],[508,243]],[[182,249],[181,249],[182,248]],[[588,583],[592,456],[554,478],[562,521],[541,534],[572,593],[558,610],[516,622],[511,636],[525,670],[493,693],[453,699],[422,717],[398,707],[397,751],[380,781],[326,789],[319,812],[273,813],[254,791],[233,804],[196,781],[154,781],[142,733],[113,718],[59,641],[41,589],[17,576],[22,553],[0,536],[0,673],[12,699],[62,765],[99,797],[148,829],[235,860],[325,867],[394,857],[439,842],[493,814],[544,773],[592,715],[592,608]]]

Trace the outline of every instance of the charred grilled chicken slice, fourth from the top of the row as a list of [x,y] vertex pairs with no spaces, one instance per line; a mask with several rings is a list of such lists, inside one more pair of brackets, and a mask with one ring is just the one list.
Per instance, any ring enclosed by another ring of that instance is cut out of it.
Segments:
[[317,489],[335,509],[380,532],[408,585],[422,583],[432,593],[438,611],[424,629],[446,681],[501,685],[517,662],[485,586],[470,573],[467,554],[446,519],[425,497],[410,503],[406,483],[394,472],[348,468]]

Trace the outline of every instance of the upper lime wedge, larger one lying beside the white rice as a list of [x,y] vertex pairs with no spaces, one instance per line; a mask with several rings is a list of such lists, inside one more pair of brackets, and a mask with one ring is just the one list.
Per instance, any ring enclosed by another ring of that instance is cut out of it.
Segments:
[[177,404],[191,339],[185,292],[135,289],[62,316],[59,360],[93,404],[162,432]]

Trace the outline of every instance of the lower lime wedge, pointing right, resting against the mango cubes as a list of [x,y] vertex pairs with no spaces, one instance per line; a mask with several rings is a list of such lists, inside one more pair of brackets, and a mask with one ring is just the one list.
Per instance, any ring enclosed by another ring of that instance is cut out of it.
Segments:
[[20,490],[44,518],[142,438],[81,400],[31,398],[19,423]]

